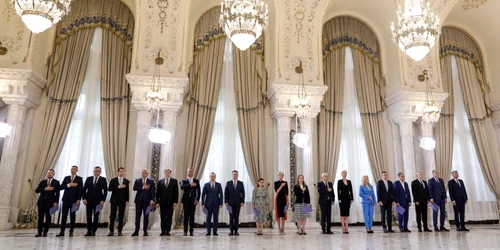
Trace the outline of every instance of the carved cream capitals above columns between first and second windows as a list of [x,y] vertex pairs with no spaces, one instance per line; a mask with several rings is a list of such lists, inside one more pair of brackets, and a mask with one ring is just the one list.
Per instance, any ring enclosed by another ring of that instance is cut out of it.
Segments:
[[[148,110],[146,95],[151,90],[151,76],[126,75],[132,92],[132,104],[137,110]],[[189,84],[187,77],[160,77],[160,93],[163,102],[160,108],[163,111],[177,112],[182,106],[184,92]]]

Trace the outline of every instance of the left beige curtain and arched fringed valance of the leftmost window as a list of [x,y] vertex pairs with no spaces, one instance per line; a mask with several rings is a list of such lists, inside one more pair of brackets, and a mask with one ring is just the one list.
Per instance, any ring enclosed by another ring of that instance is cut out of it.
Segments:
[[[33,183],[42,180],[47,170],[52,168],[59,158],[87,70],[95,28],[101,27],[104,33],[108,34],[108,40],[111,40],[109,34],[113,34],[129,47],[132,44],[133,24],[132,14],[120,0],[75,1],[71,4],[71,12],[58,23],[47,83],[49,102],[45,111],[42,142],[38,153],[38,163],[33,173]],[[106,47],[107,45],[104,46]],[[110,52],[109,48],[104,53],[104,57],[116,58],[117,56],[112,53],[117,53],[117,51]],[[123,52],[121,53],[122,56],[126,56]],[[122,65],[118,65],[118,62],[112,59],[108,62],[116,63],[112,67],[114,70],[119,70],[114,72],[113,76],[108,72],[105,75],[106,82],[122,83],[122,80],[115,79],[118,71],[122,70]],[[130,64],[130,62],[127,63]],[[122,131],[112,133],[120,136]]]

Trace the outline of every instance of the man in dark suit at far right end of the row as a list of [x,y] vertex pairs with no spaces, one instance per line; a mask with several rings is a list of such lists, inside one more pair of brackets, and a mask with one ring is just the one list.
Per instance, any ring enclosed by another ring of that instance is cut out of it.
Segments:
[[453,203],[455,225],[457,226],[457,231],[469,231],[465,227],[465,204],[469,200],[467,190],[465,190],[464,181],[458,179],[458,172],[456,170],[451,172],[451,175],[453,179],[448,181],[448,191],[450,192],[450,200]]

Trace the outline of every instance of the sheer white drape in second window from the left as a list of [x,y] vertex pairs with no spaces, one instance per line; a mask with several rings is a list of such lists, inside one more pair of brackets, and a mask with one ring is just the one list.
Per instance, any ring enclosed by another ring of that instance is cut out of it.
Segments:
[[[225,44],[224,64],[222,67],[222,79],[219,91],[219,101],[215,114],[215,123],[212,133],[212,142],[208,151],[207,163],[200,185],[210,181],[210,173],[217,175],[217,182],[225,188],[226,182],[231,180],[232,171],[237,170],[239,180],[245,185],[245,201],[248,202],[240,212],[241,222],[253,221],[251,210],[253,183],[248,174],[248,169],[243,156],[241,138],[238,129],[238,117],[236,116],[236,102],[233,75],[233,46],[231,40],[227,39]],[[203,187],[203,186],[202,186]],[[196,222],[203,224],[206,217],[201,209],[196,210]],[[229,222],[229,213],[226,209],[219,212],[219,222]]]

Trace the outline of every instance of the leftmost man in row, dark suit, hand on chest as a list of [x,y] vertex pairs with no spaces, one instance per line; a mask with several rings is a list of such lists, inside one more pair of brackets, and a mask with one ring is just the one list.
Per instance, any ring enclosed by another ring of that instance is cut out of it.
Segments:
[[36,203],[38,205],[38,234],[35,237],[47,237],[51,223],[50,208],[57,207],[59,203],[60,185],[59,181],[54,179],[54,174],[54,170],[49,169],[47,179],[42,180],[35,190],[37,194],[40,194]]

